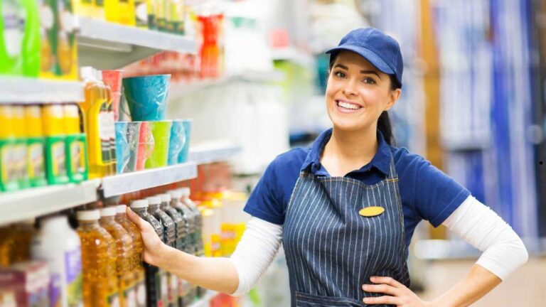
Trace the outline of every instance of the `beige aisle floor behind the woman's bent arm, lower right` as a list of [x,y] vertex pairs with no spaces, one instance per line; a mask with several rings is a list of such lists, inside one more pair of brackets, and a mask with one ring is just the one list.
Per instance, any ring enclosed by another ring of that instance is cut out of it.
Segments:
[[[475,260],[443,260],[427,264],[424,293],[419,296],[432,299],[449,290],[461,280]],[[546,306],[546,257],[530,257],[502,284],[493,289],[473,307],[535,307]]]

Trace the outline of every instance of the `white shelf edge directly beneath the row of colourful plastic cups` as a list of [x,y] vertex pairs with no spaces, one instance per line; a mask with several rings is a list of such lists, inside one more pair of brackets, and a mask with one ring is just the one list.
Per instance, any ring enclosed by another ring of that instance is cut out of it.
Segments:
[[102,178],[102,196],[109,198],[115,195],[131,193],[159,185],[176,183],[197,177],[196,163],[188,162],[176,166],[154,168],[134,173],[124,173]]

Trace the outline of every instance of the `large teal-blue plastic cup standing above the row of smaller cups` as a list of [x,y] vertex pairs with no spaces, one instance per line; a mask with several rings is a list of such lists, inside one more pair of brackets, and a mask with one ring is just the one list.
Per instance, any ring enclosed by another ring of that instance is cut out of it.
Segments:
[[123,92],[134,122],[161,121],[167,109],[171,75],[147,75],[123,79]]

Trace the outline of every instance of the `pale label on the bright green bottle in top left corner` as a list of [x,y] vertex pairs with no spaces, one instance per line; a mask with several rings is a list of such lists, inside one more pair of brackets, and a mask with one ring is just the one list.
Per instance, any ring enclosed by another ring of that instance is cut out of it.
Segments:
[[20,6],[20,1],[4,0],[2,4],[2,16],[4,20],[4,43],[6,52],[10,57],[21,55],[23,37],[25,31],[25,12]]

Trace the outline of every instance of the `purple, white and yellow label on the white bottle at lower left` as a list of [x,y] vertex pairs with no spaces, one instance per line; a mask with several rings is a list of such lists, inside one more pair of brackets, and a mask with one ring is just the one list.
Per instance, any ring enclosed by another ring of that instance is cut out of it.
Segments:
[[[82,306],[82,254],[80,247],[65,253],[68,306]],[[52,305],[54,306],[54,305]]]

